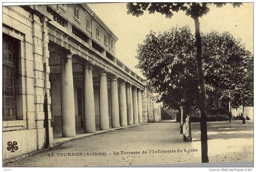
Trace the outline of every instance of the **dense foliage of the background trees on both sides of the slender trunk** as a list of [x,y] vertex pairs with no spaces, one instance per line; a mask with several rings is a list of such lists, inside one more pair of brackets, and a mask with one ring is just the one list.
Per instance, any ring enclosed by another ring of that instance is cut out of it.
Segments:
[[[202,65],[206,83],[208,111],[226,113],[228,92],[233,104],[253,98],[253,58],[240,39],[229,32],[211,31],[203,34]],[[151,31],[138,44],[139,64],[149,86],[159,93],[164,106],[179,109],[199,108],[200,90],[197,77],[195,35],[188,26],[158,33]],[[186,113],[186,111],[184,111]]]

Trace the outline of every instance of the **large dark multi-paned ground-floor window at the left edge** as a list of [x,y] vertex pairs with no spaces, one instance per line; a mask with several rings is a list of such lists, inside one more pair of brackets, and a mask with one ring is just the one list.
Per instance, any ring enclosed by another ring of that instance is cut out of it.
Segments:
[[18,42],[3,34],[3,120],[16,119],[16,66]]

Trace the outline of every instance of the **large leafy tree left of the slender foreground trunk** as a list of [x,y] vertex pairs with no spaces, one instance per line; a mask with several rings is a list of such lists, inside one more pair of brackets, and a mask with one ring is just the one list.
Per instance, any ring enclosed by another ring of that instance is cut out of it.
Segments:
[[[192,105],[198,102],[195,97],[200,96],[197,68],[194,65],[194,36],[188,27],[176,27],[157,37],[151,31],[144,43],[137,49],[137,58],[140,60],[137,67],[142,69],[154,91],[163,93],[162,99],[169,99],[164,102],[168,102],[169,106],[179,111],[180,106],[183,107],[183,124],[186,116],[190,114]],[[183,133],[182,125],[180,131]]]

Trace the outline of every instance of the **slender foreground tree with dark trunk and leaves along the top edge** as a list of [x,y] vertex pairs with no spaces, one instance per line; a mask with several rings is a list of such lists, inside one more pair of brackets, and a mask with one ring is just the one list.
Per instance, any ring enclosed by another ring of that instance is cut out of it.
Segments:
[[[173,12],[179,12],[179,10],[186,11],[186,15],[194,19],[196,28],[196,47],[197,47],[197,69],[200,86],[200,111],[201,111],[201,155],[202,163],[208,163],[208,146],[207,146],[207,123],[206,123],[206,89],[204,81],[204,71],[202,68],[202,42],[200,37],[200,23],[199,17],[206,15],[209,12],[208,5],[214,4],[217,7],[222,7],[227,3],[127,3],[127,14],[133,16],[140,16],[144,10],[148,10],[149,13],[161,13],[165,14],[166,18],[172,18]],[[230,3],[233,7],[239,7],[242,3]]]

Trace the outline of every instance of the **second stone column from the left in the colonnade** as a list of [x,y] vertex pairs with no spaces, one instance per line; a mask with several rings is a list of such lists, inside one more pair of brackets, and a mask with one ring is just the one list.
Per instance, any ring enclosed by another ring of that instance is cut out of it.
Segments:
[[92,65],[92,62],[83,65],[83,121],[85,133],[96,132]]

